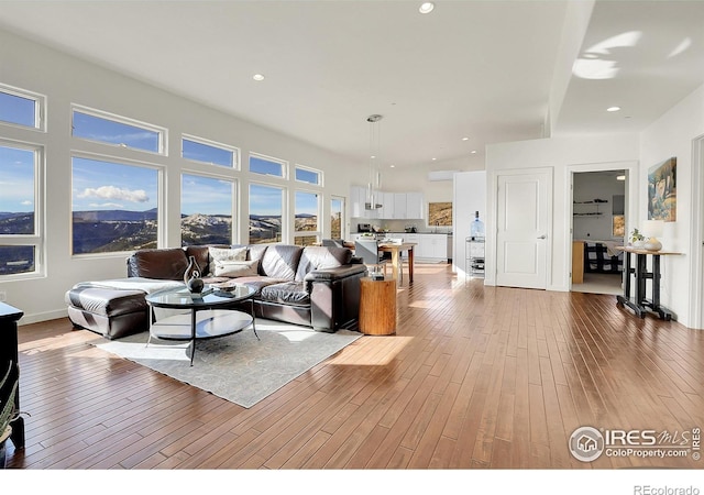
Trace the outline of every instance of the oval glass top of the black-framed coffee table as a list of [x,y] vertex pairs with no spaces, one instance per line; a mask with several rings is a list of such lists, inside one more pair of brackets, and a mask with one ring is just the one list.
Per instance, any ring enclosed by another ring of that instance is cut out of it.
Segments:
[[147,294],[146,301],[160,308],[193,308],[227,306],[252,297],[256,289],[237,285],[227,289],[206,286],[202,293],[190,293],[186,287],[158,290]]

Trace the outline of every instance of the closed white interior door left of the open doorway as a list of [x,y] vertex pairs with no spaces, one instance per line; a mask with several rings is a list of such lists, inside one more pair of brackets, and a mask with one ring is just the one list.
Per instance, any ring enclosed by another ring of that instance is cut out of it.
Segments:
[[548,172],[498,175],[496,284],[544,289],[548,284]]

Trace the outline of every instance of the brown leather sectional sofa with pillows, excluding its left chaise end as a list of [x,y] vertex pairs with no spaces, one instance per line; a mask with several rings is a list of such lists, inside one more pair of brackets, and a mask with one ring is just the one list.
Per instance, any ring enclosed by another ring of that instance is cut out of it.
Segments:
[[190,256],[206,284],[246,284],[256,288],[255,314],[260,318],[334,332],[356,321],[360,279],[366,267],[346,248],[252,244],[246,260],[256,275],[237,278],[215,276],[209,246],[141,250],[128,258],[128,277],[183,280]]

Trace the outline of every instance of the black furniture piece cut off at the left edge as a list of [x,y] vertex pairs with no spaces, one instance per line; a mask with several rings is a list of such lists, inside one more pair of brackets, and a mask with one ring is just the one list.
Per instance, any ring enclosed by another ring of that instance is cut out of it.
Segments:
[[[4,404],[12,391],[12,386],[20,378],[20,366],[18,364],[18,321],[24,316],[23,311],[10,305],[0,302],[0,369],[2,373],[12,363],[10,380],[0,391],[0,403]],[[20,389],[14,396],[14,406],[20,410]],[[12,443],[15,449],[24,448],[24,418],[19,417],[10,424],[12,426]]]

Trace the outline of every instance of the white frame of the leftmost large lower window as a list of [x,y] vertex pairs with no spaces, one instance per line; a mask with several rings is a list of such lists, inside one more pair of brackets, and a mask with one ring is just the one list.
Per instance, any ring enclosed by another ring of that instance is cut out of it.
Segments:
[[[30,128],[25,128],[30,129]],[[0,275],[0,282],[23,280],[46,276],[46,242],[44,218],[45,189],[45,150],[44,145],[0,138],[0,145],[32,151],[34,153],[34,233],[33,234],[0,234],[2,246],[33,246],[34,270],[31,272]]]

